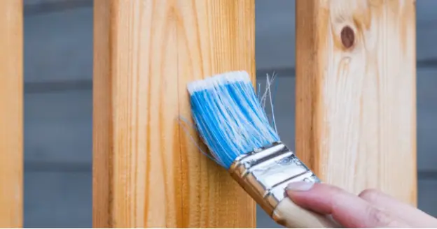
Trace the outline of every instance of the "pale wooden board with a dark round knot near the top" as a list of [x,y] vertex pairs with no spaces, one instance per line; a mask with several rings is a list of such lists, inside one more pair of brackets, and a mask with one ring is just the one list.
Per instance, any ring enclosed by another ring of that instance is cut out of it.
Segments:
[[415,1],[296,1],[296,152],[416,204]]

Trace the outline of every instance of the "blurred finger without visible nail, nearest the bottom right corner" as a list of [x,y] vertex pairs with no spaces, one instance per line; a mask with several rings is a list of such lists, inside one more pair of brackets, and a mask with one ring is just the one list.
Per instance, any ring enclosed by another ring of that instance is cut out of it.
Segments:
[[386,211],[391,212],[391,214],[397,218],[403,219],[403,221],[410,226],[424,226],[426,228],[437,227],[436,218],[433,218],[429,214],[426,214],[411,205],[396,200],[381,191],[377,191],[376,189],[366,189],[359,193],[358,196],[380,209],[385,209]]

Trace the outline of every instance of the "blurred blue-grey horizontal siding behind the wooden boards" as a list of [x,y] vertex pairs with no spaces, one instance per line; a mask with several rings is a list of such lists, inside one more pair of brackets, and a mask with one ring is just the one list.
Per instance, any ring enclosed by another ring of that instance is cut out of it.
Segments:
[[[25,0],[25,227],[92,226],[92,1]],[[419,208],[437,216],[437,1],[417,0]],[[294,1],[256,0],[258,80],[294,147]],[[275,223],[258,211],[259,228]]]

